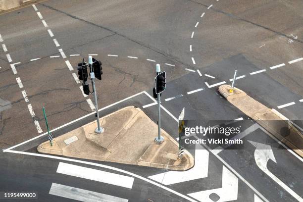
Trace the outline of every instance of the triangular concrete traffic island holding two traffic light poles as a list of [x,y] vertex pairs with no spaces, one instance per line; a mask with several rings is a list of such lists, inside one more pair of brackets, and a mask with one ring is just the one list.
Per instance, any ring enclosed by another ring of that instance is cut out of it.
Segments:
[[139,108],[129,106],[100,118],[104,133],[97,134],[97,121],[88,123],[38,146],[38,152],[91,160],[187,170],[194,158],[185,152],[178,159],[178,143],[164,130],[165,141],[157,145],[157,125]]

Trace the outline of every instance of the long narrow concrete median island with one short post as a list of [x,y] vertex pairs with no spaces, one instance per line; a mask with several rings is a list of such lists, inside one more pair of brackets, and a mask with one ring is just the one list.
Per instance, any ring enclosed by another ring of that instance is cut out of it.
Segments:
[[219,93],[224,96],[227,101],[253,118],[253,120],[279,141],[303,157],[303,134],[290,123],[287,118],[275,109],[270,109],[254,100],[238,88],[234,88],[233,91],[230,90],[230,85],[221,85],[218,89]]

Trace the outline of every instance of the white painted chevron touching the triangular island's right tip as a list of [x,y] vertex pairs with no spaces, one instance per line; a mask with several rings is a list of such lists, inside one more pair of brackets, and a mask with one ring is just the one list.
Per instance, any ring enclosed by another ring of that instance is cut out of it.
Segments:
[[168,171],[152,175],[149,178],[164,185],[171,185],[207,177],[209,152],[203,149],[196,149],[195,152],[195,166],[192,169],[187,171]]

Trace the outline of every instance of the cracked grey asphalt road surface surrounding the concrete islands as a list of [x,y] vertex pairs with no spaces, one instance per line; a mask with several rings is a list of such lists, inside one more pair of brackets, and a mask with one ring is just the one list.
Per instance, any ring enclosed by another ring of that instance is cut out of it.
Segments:
[[159,63],[161,126],[174,138],[183,107],[204,124],[248,118],[217,92],[235,70],[236,87],[302,128],[302,10],[301,0],[47,0],[0,14],[0,192],[36,192],[29,201],[43,202],[302,202],[302,158],[253,121],[245,150],[193,146],[194,168],[177,173],[36,150],[47,140],[43,106],[54,137],[95,119],[77,79],[88,55],[102,61],[100,116],[135,105],[156,122]]

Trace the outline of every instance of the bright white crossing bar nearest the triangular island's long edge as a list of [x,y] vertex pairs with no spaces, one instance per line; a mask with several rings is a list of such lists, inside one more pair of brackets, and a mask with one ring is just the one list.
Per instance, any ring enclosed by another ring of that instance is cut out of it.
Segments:
[[94,180],[115,186],[132,189],[134,178],[125,175],[110,173],[97,169],[59,162],[57,173]]

